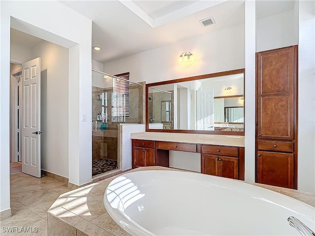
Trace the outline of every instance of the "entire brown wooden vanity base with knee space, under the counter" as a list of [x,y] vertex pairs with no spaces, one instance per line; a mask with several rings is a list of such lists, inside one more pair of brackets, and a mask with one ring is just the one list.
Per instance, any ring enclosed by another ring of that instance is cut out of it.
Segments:
[[244,180],[244,148],[132,139],[132,168],[169,167],[169,151],[201,153],[201,173]]

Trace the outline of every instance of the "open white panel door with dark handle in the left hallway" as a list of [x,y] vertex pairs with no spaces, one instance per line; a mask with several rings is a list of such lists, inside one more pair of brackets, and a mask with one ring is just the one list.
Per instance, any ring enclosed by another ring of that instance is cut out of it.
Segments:
[[22,172],[40,177],[40,58],[22,64]]

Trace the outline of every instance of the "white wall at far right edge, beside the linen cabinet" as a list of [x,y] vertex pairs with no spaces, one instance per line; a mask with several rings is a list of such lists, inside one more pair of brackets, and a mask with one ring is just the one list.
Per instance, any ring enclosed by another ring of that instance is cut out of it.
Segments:
[[315,193],[315,2],[299,1],[298,189]]

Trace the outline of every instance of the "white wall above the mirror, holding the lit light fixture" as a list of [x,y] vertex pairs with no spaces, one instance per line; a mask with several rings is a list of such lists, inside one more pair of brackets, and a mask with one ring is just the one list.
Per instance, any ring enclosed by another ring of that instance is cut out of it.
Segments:
[[[128,71],[131,81],[153,83],[241,69],[245,66],[244,36],[244,25],[221,29],[176,44],[106,62],[104,71],[114,75]],[[195,60],[177,62],[179,55],[186,51],[190,51]]]

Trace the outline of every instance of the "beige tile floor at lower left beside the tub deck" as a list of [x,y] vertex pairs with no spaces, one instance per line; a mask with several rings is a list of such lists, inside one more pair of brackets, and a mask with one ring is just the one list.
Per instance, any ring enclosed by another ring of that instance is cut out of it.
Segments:
[[[0,235],[47,236],[47,210],[59,195],[70,191],[67,184],[51,177],[36,178],[24,173],[10,175],[12,216],[0,221]],[[6,227],[34,227],[38,232],[7,231]]]

